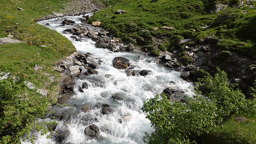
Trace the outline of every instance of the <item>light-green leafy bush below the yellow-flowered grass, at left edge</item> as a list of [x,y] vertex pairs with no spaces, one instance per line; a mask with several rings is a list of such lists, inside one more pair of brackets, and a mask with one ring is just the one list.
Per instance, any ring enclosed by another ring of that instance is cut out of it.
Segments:
[[[20,64],[20,63],[19,63]],[[26,83],[36,79],[31,73],[32,67],[26,66],[20,70],[16,65],[1,65],[2,75],[5,70],[19,72],[16,75],[8,74],[6,79],[0,80],[0,143],[17,144],[20,137],[28,134],[36,127],[38,131],[46,134],[46,127],[35,124],[36,118],[44,116],[49,106],[48,98],[42,96],[36,89],[30,90]],[[34,140],[34,136],[28,137]]]

